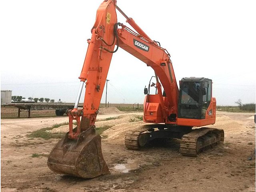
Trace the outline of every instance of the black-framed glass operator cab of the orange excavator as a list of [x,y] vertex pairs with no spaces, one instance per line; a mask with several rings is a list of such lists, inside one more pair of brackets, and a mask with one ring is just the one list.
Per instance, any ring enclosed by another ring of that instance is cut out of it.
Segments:
[[[182,78],[178,100],[178,118],[204,119],[212,99],[212,80]],[[209,111],[208,114],[212,114]]]

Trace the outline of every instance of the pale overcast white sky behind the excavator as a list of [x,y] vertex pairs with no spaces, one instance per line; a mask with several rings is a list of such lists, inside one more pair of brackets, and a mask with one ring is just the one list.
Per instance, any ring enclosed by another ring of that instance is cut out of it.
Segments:
[[[2,0],[1,90],[74,102],[86,40],[101,2]],[[238,99],[255,103],[254,0],[118,0],[117,5],[168,50],[177,81],[192,76],[212,79],[217,105],[236,105]],[[117,16],[129,26],[121,14]],[[143,103],[144,87],[153,75],[152,68],[118,49],[107,77],[107,101]]]

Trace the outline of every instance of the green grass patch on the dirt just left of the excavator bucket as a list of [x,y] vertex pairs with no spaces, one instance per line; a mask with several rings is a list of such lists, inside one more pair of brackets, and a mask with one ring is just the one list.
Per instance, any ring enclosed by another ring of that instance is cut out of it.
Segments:
[[28,134],[27,136],[29,138],[43,138],[45,140],[48,140],[48,139],[51,139],[51,138],[63,138],[65,133],[50,133],[50,132],[47,132],[47,130],[52,130],[52,129],[58,128],[62,125],[68,125],[68,122],[64,122],[64,123],[60,123],[60,124],[54,124],[51,127],[46,127],[46,128],[36,130],[36,131]]

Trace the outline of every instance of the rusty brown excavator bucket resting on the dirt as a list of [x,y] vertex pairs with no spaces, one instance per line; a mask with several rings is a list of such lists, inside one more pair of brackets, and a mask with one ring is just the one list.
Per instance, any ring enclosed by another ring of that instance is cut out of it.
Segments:
[[95,126],[82,132],[77,140],[66,136],[50,152],[50,170],[81,178],[94,178],[109,174],[101,150],[101,137],[95,133]]

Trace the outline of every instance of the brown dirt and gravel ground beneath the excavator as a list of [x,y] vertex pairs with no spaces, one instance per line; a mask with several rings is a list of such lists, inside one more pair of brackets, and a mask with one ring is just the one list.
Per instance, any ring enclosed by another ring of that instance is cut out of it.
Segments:
[[[120,115],[120,114],[118,114]],[[224,143],[196,158],[179,153],[179,140],[127,150],[124,132],[143,122],[116,125],[103,134],[102,152],[111,174],[84,180],[56,174],[47,157],[57,139],[28,138],[28,132],[68,121],[64,117],[1,120],[2,192],[252,192],[255,191],[255,124],[252,113],[218,112],[214,127]],[[114,115],[99,115],[100,118]],[[107,122],[106,122],[107,123]],[[32,157],[32,154],[40,154]]]

